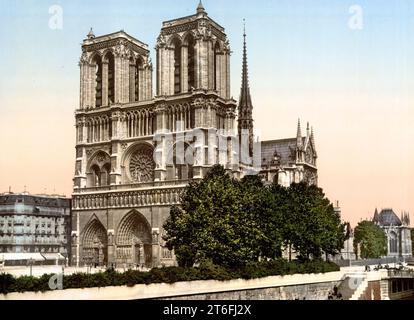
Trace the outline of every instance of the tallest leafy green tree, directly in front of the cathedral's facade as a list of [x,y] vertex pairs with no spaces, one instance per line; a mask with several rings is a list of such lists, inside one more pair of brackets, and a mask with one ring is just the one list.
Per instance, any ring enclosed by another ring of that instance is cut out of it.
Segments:
[[175,250],[180,266],[204,260],[238,266],[258,259],[257,238],[263,231],[256,221],[258,207],[248,205],[255,195],[244,189],[260,186],[236,181],[219,165],[185,189],[181,206],[171,209],[164,225],[167,246]]

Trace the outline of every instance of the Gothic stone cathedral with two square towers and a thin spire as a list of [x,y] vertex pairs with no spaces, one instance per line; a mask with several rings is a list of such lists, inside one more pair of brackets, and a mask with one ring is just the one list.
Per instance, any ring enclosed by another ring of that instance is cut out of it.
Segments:
[[162,23],[155,50],[154,68],[148,45],[122,30],[91,29],[83,41],[72,265],[173,265],[162,226],[188,182],[214,164],[236,178],[317,184],[309,125],[302,135],[298,123],[289,139],[254,137],[245,32],[238,103],[225,29],[201,2],[193,15]]

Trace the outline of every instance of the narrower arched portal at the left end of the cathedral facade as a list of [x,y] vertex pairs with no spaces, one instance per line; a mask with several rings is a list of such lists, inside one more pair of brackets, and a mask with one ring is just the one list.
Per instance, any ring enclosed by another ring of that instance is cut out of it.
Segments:
[[106,229],[95,217],[84,229],[82,238],[82,262],[103,266],[108,262],[108,237]]

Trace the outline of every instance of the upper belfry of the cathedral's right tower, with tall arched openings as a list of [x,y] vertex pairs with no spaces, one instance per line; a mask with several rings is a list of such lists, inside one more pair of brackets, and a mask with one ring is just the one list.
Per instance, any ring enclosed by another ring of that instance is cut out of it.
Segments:
[[230,98],[230,46],[200,2],[194,15],[165,21],[157,39],[157,95],[194,90]]

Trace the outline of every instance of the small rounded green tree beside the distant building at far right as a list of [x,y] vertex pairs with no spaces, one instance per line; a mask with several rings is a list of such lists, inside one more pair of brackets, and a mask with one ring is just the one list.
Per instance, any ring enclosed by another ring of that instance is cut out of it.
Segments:
[[387,238],[384,231],[372,221],[361,221],[354,231],[354,251],[362,259],[380,258],[387,254]]

